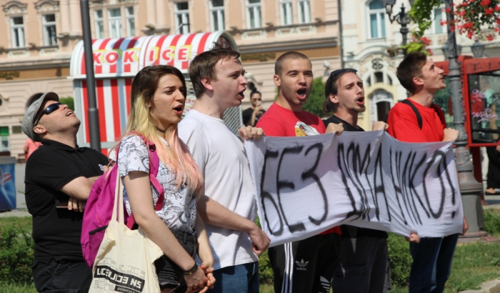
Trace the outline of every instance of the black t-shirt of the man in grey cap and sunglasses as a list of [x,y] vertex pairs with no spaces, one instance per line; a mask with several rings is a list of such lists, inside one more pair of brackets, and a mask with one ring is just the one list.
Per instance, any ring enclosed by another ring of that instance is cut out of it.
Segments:
[[81,254],[82,212],[56,208],[56,201],[68,202],[69,196],[59,189],[77,177],[103,174],[109,160],[94,149],[62,144],[44,139],[43,144],[26,162],[26,206],[33,216],[35,260],[51,258],[83,261]]

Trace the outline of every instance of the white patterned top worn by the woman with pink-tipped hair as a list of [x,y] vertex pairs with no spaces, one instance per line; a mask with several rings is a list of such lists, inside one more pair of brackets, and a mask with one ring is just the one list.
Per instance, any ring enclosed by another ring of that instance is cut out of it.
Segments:
[[[167,142],[162,139],[164,144]],[[146,144],[139,136],[126,136],[121,141],[118,154],[118,167],[120,177],[125,177],[131,171],[141,171],[149,174],[149,155]],[[194,231],[194,222],[196,220],[196,194],[189,193],[187,184],[176,188],[176,175],[166,167],[161,161],[156,179],[164,188],[165,199],[160,211],[156,211],[158,217],[170,228],[184,232]],[[153,202],[156,204],[159,192],[151,184],[151,193]],[[131,214],[129,196],[124,189],[124,202],[126,211]]]

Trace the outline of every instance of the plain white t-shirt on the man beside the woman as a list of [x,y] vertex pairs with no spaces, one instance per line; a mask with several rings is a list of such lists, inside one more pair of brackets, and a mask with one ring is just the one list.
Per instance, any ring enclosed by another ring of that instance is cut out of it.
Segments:
[[[203,173],[205,194],[246,219],[255,221],[256,203],[243,144],[224,124],[191,109],[179,123],[179,137]],[[256,262],[245,232],[205,224],[214,269]]]

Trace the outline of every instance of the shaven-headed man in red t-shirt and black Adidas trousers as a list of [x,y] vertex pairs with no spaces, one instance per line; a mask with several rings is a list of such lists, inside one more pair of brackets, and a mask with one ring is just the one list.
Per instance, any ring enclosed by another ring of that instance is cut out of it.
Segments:
[[[344,130],[341,124],[325,128],[319,116],[302,111],[311,93],[312,65],[298,52],[281,55],[274,65],[278,98],[261,116],[257,127],[266,136],[309,136]],[[308,239],[269,248],[274,272],[274,292],[330,292],[331,279],[339,264],[341,232],[334,227]]]

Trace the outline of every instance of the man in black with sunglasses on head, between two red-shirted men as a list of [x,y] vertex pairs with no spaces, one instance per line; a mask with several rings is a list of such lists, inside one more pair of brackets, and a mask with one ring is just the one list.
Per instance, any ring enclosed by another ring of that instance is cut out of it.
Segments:
[[[363,81],[355,69],[331,72],[325,96],[325,113],[334,113],[324,120],[325,127],[335,123],[342,124],[345,131],[364,131],[358,126],[358,114],[366,110]],[[376,121],[372,129],[387,127],[386,123]],[[391,289],[387,233],[349,225],[342,225],[341,230],[340,265],[331,286],[334,292],[380,293]]]

